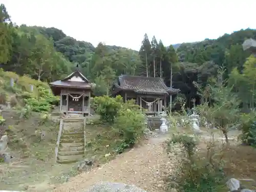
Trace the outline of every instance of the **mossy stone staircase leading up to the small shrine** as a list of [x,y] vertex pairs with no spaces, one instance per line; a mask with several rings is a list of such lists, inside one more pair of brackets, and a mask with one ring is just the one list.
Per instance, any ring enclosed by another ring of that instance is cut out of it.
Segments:
[[55,149],[57,163],[74,163],[84,158],[86,118],[62,117]]

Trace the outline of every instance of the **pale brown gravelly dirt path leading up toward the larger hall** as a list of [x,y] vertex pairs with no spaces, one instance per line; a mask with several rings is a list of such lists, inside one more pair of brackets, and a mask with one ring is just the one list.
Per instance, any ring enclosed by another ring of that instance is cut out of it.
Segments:
[[172,167],[161,145],[165,139],[166,136],[151,138],[147,144],[118,156],[92,172],[71,178],[67,183],[57,186],[54,191],[83,191],[100,181],[135,184],[150,192],[162,191],[161,170]]

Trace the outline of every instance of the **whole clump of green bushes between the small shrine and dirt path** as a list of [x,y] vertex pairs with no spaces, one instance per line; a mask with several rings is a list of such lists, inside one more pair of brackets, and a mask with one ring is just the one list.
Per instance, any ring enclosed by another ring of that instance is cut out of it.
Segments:
[[116,153],[132,147],[144,133],[144,116],[134,100],[123,102],[121,96],[111,98],[100,96],[93,98],[92,107],[100,119],[113,125],[113,130],[121,138]]

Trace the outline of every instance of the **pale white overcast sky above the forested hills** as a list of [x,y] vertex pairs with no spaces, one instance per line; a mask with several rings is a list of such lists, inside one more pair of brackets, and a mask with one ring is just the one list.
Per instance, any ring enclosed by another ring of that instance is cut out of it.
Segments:
[[256,29],[255,0],[0,0],[17,25],[55,27],[77,40],[139,50]]

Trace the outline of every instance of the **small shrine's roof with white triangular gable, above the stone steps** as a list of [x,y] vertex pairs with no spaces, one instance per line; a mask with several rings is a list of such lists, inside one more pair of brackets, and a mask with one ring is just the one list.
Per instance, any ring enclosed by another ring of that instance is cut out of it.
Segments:
[[49,83],[51,87],[70,87],[70,88],[81,88],[81,89],[91,89],[91,82],[83,76],[83,74],[76,70],[69,76],[62,80],[57,80]]

